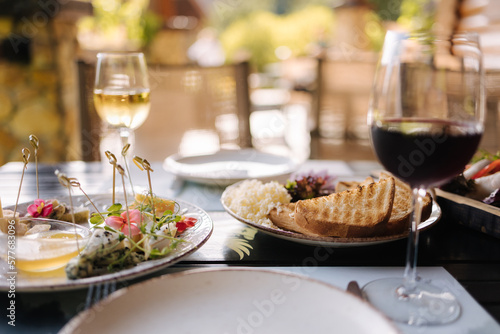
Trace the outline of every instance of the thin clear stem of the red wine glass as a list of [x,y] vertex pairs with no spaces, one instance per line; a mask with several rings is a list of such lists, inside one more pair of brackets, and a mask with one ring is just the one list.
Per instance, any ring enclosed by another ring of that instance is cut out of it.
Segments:
[[418,225],[422,217],[422,202],[427,191],[423,188],[413,189],[413,214],[411,220],[410,234],[408,236],[408,248],[406,252],[406,268],[404,273],[404,289],[410,292],[415,288],[418,280],[417,255],[418,255]]

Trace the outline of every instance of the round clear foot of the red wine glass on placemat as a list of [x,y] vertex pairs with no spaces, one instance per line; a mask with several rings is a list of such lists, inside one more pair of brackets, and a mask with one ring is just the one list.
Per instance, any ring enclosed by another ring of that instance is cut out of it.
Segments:
[[432,284],[417,281],[402,294],[403,278],[384,278],[363,287],[364,297],[396,322],[408,325],[443,325],[460,316],[461,307],[453,294]]

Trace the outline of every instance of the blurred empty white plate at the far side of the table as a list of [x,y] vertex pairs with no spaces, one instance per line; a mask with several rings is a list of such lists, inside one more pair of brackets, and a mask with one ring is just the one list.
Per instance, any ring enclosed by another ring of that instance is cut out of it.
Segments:
[[227,186],[248,178],[285,181],[298,164],[287,157],[242,149],[197,156],[174,154],[163,167],[188,181]]

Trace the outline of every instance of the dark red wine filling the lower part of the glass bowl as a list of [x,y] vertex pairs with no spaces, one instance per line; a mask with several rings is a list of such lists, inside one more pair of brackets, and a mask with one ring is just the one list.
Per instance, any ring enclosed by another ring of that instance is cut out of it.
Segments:
[[371,139],[382,165],[412,187],[433,187],[460,174],[481,141],[474,123],[389,119],[375,122]]

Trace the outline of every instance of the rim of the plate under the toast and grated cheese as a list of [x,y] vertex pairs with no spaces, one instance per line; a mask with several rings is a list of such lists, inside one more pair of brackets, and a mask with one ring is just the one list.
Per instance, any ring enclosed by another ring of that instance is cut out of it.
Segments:
[[[276,229],[264,225],[260,225],[257,223],[254,223],[248,219],[245,219],[238,214],[236,214],[233,210],[229,208],[229,206],[226,203],[226,196],[228,192],[230,191],[231,187],[237,187],[239,183],[233,184],[229,187],[227,187],[224,192],[222,193],[221,196],[221,203],[222,206],[224,207],[224,210],[226,210],[227,213],[229,213],[231,216],[239,220],[240,222],[247,224],[249,226],[255,227],[257,230],[262,231],[266,234],[272,235],[274,237],[280,238],[280,239],[285,239],[293,242],[297,242],[300,244],[305,244],[305,245],[310,245],[310,246],[322,246],[322,247],[359,247],[359,246],[372,246],[372,245],[377,245],[377,244],[383,244],[399,239],[404,239],[408,236],[408,233],[404,234],[397,234],[397,235],[389,235],[389,236],[378,236],[378,237],[371,237],[371,238],[337,238],[337,237],[313,237],[313,236],[308,236],[304,235],[301,233],[296,233],[296,232],[291,232],[291,231],[286,231],[282,229]],[[427,219],[424,222],[421,222],[418,225],[419,231],[423,231],[428,229],[429,227],[433,226],[436,224],[439,219],[441,218],[441,208],[439,205],[436,203],[436,201],[432,201],[432,212],[431,216],[429,219]]]

